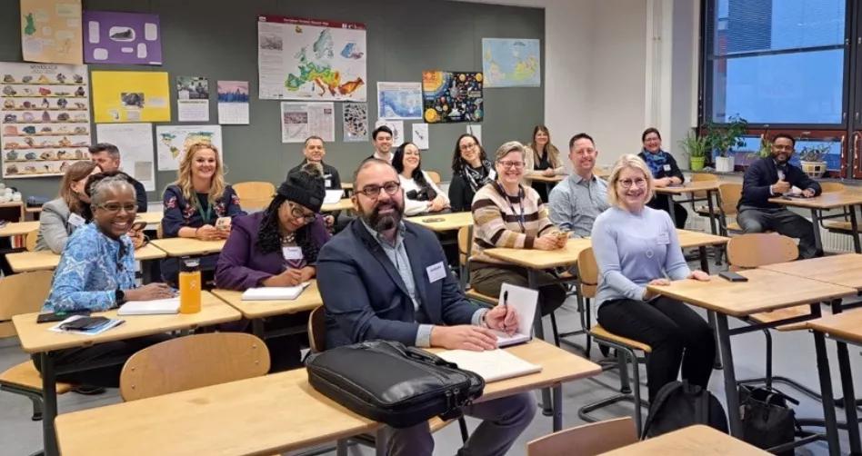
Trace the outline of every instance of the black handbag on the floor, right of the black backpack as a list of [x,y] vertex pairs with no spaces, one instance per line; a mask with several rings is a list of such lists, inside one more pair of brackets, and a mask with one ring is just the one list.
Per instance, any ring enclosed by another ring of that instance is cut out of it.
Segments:
[[[799,401],[767,387],[739,385],[739,412],[742,440],[767,450],[789,443],[796,437],[796,416],[787,402]],[[777,454],[793,456],[792,449]]]

